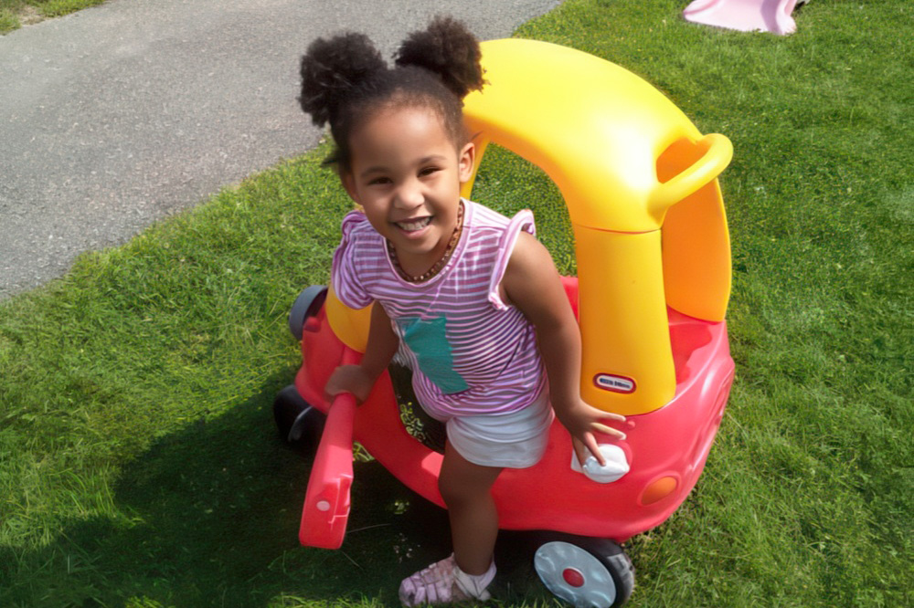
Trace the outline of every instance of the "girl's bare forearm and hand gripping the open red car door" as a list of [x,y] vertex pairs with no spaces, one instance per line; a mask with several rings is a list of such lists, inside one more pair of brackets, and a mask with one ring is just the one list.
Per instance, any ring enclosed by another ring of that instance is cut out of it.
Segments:
[[324,393],[334,397],[339,393],[352,393],[359,403],[368,398],[377,377],[387,369],[397,354],[399,338],[390,326],[390,319],[379,302],[371,309],[371,325],[365,354],[357,365],[341,365],[330,375]]

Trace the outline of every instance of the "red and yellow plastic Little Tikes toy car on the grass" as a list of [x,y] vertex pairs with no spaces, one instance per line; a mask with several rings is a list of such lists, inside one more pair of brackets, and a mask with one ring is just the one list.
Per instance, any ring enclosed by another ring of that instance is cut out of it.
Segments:
[[[633,569],[618,543],[685,500],[728,399],[730,260],[717,175],[732,147],[722,135],[703,137],[659,91],[608,61],[531,40],[482,47],[489,84],[464,107],[477,163],[495,142],[557,183],[576,241],[578,278],[563,280],[579,318],[581,395],[627,416],[626,439],[600,440],[610,461],[603,470],[595,459],[577,466],[555,422],[542,460],[495,482],[500,525],[552,531],[535,568],[559,598],[621,605]],[[303,508],[305,545],[342,543],[354,438],[443,506],[441,453],[410,435],[387,373],[357,409],[351,395],[324,398],[335,367],[364,351],[369,314],[323,286],[306,288],[290,314],[303,366],[276,399],[277,424],[290,441],[324,429]]]

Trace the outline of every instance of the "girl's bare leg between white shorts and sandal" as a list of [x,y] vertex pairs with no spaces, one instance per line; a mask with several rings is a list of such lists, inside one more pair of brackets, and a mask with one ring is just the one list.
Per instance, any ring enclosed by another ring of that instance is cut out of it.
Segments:
[[467,574],[484,574],[492,565],[498,512],[491,490],[501,471],[473,464],[450,444],[444,449],[438,487],[451,519],[454,559]]

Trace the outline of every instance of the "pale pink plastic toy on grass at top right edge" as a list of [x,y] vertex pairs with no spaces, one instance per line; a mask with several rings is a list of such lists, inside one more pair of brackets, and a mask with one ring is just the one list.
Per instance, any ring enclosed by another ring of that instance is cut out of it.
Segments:
[[695,0],[685,7],[687,21],[742,32],[765,31],[786,36],[796,31],[791,16],[797,0]]

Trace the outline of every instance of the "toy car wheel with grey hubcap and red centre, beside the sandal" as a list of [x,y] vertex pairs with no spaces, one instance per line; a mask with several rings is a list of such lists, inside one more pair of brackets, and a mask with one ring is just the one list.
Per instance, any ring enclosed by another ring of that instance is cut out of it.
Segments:
[[622,606],[634,590],[634,567],[608,539],[545,534],[534,567],[553,595],[576,607]]

